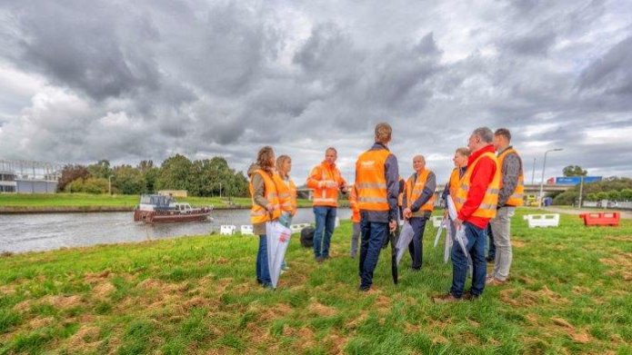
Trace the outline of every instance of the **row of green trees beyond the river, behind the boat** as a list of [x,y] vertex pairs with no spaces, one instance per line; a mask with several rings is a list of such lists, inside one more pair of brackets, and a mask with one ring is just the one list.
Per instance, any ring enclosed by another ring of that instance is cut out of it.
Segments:
[[248,180],[222,157],[191,161],[176,154],[160,166],[142,161],[136,166],[111,166],[107,160],[89,165],[68,164],[57,183],[58,192],[140,194],[186,190],[190,196],[247,196]]

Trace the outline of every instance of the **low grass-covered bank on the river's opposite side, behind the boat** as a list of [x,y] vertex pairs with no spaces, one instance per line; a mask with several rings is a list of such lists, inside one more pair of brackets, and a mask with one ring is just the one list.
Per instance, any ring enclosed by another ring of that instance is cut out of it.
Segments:
[[[45,209],[47,207],[129,207],[133,208],[139,202],[135,195],[94,195],[85,193],[35,193],[35,194],[0,194],[0,207]],[[214,205],[216,208],[231,207],[230,202],[239,206],[249,207],[250,198],[234,197],[229,202],[219,197],[183,197],[178,201],[189,202],[193,206]],[[299,200],[301,207],[311,207],[312,202]]]

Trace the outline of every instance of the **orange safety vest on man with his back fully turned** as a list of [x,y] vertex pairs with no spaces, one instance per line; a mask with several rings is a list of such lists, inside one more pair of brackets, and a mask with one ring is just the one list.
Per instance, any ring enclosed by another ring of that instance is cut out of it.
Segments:
[[356,162],[357,203],[361,211],[388,211],[385,163],[386,149],[360,154]]

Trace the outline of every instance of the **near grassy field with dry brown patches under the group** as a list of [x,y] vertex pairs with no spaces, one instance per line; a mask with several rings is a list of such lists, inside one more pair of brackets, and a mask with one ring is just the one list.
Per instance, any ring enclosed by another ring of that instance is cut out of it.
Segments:
[[506,285],[435,304],[451,268],[434,230],[424,268],[383,252],[375,290],[356,291],[351,226],[319,265],[292,241],[276,291],[255,281],[256,238],[200,236],[0,257],[0,354],[632,353],[632,221],[557,229],[513,222]]

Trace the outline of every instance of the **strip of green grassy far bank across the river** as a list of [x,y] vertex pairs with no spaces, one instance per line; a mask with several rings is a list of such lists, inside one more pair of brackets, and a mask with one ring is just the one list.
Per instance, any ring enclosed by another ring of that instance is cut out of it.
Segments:
[[[92,195],[84,193],[35,193],[0,194],[0,214],[10,213],[60,213],[60,212],[131,212],[138,204],[139,196]],[[183,197],[178,202],[189,202],[192,206],[213,205],[216,210],[249,209],[250,198],[234,197],[230,200],[219,197]],[[298,200],[300,208],[312,207],[309,200]],[[341,207],[348,206],[346,201]]]

